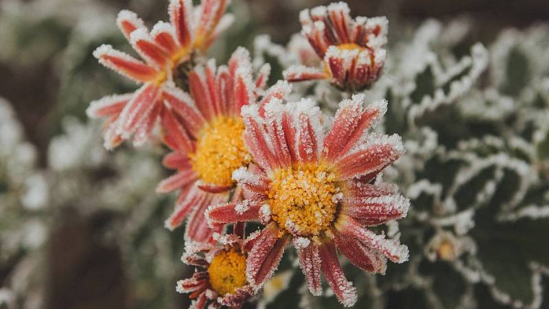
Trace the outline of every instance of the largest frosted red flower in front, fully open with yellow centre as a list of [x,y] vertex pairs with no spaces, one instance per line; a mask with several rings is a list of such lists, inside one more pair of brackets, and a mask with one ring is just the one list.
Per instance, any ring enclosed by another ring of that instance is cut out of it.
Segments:
[[386,101],[363,108],[364,95],[340,102],[327,133],[311,100],[271,100],[264,117],[257,106],[242,108],[246,145],[257,167],[233,173],[245,196],[241,203],[207,209],[212,225],[260,220],[266,225],[246,260],[248,282],[258,290],[277,268],[286,244],[299,251],[309,290],[320,295],[320,273],[344,306],[356,301],[345,279],[338,249],[356,266],[384,273],[386,258],[401,263],[408,248],[364,226],[406,216],[410,202],[375,176],[404,152],[398,135],[367,130],[384,115]]

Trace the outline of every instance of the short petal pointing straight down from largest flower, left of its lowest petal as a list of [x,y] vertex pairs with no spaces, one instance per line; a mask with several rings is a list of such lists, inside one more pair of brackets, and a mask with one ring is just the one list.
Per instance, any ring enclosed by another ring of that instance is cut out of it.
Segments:
[[309,291],[314,296],[322,294],[322,282],[320,281],[321,274],[320,250],[318,245],[309,244],[308,247],[299,250],[299,266],[307,279]]

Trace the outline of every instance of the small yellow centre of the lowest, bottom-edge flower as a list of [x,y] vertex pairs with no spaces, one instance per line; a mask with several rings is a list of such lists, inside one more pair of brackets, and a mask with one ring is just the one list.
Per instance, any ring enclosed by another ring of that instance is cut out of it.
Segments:
[[246,280],[246,256],[237,252],[220,251],[211,260],[208,267],[211,288],[220,295],[235,293],[237,288],[242,288]]

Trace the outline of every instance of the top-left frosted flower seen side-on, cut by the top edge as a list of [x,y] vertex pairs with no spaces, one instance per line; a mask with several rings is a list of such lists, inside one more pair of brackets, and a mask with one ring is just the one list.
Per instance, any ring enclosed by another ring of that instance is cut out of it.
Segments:
[[[170,23],[160,21],[149,33],[137,14],[122,10],[117,24],[144,62],[110,45],[101,45],[93,56],[100,63],[121,75],[143,84],[137,91],[110,95],[91,102],[89,117],[106,117],[105,147],[112,149],[134,135],[134,144],[147,141],[166,114],[174,114],[165,104],[164,91],[174,88],[174,76],[185,67],[195,53],[204,52],[232,21],[223,16],[226,0],[204,0],[194,7],[191,0],[171,0]],[[165,124],[164,124],[165,125]]]

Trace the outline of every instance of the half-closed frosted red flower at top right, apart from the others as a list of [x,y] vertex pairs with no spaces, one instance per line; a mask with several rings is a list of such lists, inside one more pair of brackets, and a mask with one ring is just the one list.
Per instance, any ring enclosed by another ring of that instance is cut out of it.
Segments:
[[292,66],[284,71],[286,80],[329,79],[340,89],[360,91],[381,76],[386,60],[386,17],[351,19],[347,3],[339,2],[303,10],[299,18],[301,33],[324,61],[320,69]]

